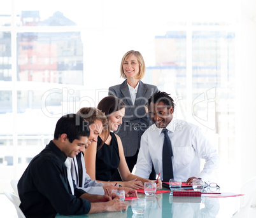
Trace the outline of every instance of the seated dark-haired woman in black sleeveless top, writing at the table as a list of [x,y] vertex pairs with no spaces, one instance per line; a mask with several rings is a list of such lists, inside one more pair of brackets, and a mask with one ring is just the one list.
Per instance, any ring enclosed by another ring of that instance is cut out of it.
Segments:
[[[85,166],[87,174],[91,179],[108,182],[113,173],[118,169],[122,181],[118,184],[134,189],[143,188],[143,179],[131,174],[124,157],[122,141],[116,131],[122,124],[122,118],[125,114],[125,104],[121,99],[114,96],[108,96],[99,102],[97,109],[105,113],[108,119],[108,127],[104,128],[103,133],[98,137],[97,142],[92,142],[85,150]],[[105,140],[106,139],[106,140]],[[162,182],[157,182],[157,187],[162,187]]]

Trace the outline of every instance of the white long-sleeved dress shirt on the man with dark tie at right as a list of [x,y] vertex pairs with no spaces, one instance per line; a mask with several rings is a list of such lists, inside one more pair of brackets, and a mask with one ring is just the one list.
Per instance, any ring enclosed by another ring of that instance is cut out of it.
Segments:
[[[199,127],[173,118],[166,128],[169,130],[168,136],[173,148],[174,179],[181,179],[185,182],[189,177],[198,177],[205,182],[210,182],[211,174],[218,168],[220,158]],[[163,144],[162,128],[157,128],[153,124],[141,137],[135,175],[148,179],[153,163],[155,172],[157,174],[161,172],[160,179],[162,179]],[[203,170],[200,169],[200,158],[205,160]]]

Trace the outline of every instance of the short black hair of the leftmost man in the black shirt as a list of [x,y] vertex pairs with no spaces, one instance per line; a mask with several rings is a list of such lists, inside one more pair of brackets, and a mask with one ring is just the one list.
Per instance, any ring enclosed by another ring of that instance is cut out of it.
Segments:
[[81,136],[89,137],[90,129],[87,121],[78,114],[62,116],[56,124],[54,139],[59,139],[63,133],[67,134],[69,142],[80,139]]

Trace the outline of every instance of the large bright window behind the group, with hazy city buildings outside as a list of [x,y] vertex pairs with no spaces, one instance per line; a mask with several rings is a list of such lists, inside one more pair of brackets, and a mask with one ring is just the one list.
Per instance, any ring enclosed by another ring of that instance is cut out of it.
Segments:
[[96,107],[109,86],[123,81],[120,61],[129,50],[145,58],[143,81],[171,93],[174,116],[199,125],[211,140],[222,160],[216,180],[230,187],[241,163],[241,2],[131,3],[11,0],[1,6],[0,192],[52,139],[60,116]]

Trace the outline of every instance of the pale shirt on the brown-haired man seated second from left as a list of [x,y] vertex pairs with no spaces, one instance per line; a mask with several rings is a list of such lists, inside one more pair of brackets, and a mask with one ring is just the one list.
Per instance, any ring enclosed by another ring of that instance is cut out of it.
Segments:
[[72,179],[75,182],[76,187],[83,189],[86,193],[89,194],[100,194],[104,195],[104,184],[102,182],[97,182],[90,179],[90,175],[87,174],[85,168],[85,160],[83,154],[81,155],[81,163],[83,167],[83,178],[82,178],[82,187],[79,187],[79,174],[78,174],[78,164],[76,158],[69,158],[71,160],[71,175]]

